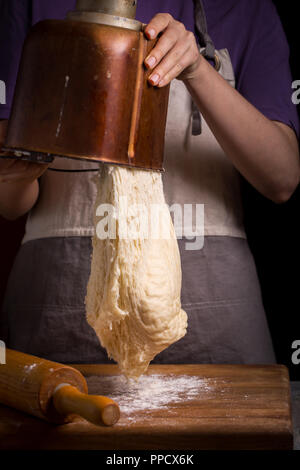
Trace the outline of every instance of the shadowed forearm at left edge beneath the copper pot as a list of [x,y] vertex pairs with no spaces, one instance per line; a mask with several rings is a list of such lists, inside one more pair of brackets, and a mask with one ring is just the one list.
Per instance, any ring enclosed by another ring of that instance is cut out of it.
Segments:
[[[0,121],[0,150],[7,128],[7,121]],[[18,160],[1,159],[0,153],[0,215],[15,220],[29,212],[37,201],[37,178],[47,165]]]

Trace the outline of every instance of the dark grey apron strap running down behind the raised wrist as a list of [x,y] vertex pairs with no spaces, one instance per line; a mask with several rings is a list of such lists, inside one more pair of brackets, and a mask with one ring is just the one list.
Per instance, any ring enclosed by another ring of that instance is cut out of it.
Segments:
[[[207,32],[207,21],[202,0],[194,0],[195,33],[201,54],[208,60],[215,59],[215,45]],[[192,102],[192,135],[201,135],[201,114]]]

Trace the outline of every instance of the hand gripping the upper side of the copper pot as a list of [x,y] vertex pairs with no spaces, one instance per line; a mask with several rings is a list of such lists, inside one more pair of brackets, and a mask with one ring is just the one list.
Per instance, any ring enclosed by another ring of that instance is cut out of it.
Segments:
[[161,36],[145,59],[145,65],[152,70],[149,82],[163,87],[174,78],[188,80],[197,74],[203,58],[199,52],[195,35],[169,13],[154,16],[144,29],[148,39]]

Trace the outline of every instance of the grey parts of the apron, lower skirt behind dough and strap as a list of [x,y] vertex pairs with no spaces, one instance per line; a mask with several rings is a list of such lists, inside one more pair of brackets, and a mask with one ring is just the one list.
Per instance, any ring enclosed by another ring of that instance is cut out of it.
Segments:
[[[215,51],[199,1],[195,25],[201,52],[212,61],[217,54],[230,81],[228,51]],[[201,132],[194,106],[192,133]],[[237,224],[236,236],[206,236],[198,251],[187,251],[186,240],[178,240],[188,331],[154,363],[275,362],[255,264],[239,234]],[[0,339],[8,347],[65,363],[111,362],[85,318],[91,252],[89,236],[41,238],[21,246],[0,318]]]

